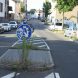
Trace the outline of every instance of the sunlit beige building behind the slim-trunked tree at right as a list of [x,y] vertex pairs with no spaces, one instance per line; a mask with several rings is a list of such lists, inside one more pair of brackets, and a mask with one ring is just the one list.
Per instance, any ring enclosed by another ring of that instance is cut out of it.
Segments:
[[[78,19],[77,19],[78,18],[78,6],[75,6],[72,11],[65,12],[64,17],[75,23],[78,23]],[[59,13],[58,10],[56,10],[56,18],[62,19],[62,13]]]

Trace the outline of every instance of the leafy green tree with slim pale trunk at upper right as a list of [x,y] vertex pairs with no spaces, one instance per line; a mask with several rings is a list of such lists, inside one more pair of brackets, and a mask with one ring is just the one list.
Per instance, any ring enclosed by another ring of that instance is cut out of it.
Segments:
[[78,0],[56,0],[57,5],[56,8],[60,13],[63,13],[63,19],[62,19],[62,28],[64,25],[64,13],[68,11],[72,11],[73,8],[78,5]]

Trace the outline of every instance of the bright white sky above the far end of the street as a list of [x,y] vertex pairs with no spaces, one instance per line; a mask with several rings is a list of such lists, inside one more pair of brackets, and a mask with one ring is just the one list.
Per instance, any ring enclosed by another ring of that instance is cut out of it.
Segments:
[[27,10],[30,9],[42,9],[43,0],[27,0]]

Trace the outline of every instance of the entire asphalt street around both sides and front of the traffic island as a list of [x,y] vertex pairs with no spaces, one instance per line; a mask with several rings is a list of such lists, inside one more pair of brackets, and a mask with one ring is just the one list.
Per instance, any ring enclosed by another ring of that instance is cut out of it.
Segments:
[[[19,71],[16,78],[77,78],[78,77],[78,44],[67,40],[66,38],[54,34],[47,29],[39,20],[29,21],[35,28],[33,34],[43,38],[51,49],[51,54],[55,66],[47,71]],[[7,51],[5,46],[11,46],[17,40],[16,30],[0,34],[0,56]],[[15,71],[0,69],[0,78]],[[50,77],[52,73],[57,74],[56,77]]]

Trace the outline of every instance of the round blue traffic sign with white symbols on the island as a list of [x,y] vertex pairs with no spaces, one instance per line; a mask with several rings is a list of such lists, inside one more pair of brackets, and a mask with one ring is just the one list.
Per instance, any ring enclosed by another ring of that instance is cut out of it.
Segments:
[[18,40],[22,40],[24,37],[28,40],[31,37],[31,34],[31,27],[28,24],[19,26],[16,31]]

